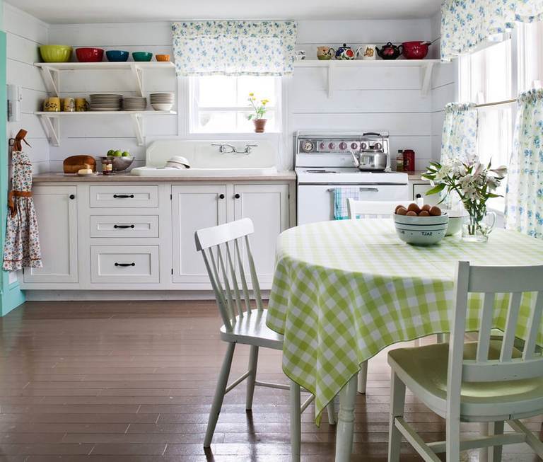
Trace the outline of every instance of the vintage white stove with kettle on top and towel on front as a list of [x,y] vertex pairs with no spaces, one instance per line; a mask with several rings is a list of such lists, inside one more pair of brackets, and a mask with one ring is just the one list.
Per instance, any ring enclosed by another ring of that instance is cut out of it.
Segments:
[[[379,151],[387,156],[380,171],[361,171],[351,154]],[[359,200],[409,199],[407,173],[390,170],[387,132],[295,135],[295,171],[298,177],[298,224],[334,219],[334,190],[358,187]]]

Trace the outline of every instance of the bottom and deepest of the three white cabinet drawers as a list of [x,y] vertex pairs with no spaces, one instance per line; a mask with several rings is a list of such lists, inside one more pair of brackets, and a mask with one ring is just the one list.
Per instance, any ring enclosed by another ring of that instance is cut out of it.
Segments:
[[91,282],[158,283],[158,246],[91,246]]

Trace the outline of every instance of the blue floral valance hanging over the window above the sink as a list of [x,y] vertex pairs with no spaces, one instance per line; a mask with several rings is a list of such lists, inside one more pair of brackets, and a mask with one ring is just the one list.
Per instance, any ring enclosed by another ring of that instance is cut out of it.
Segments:
[[172,23],[177,76],[292,74],[294,21]]

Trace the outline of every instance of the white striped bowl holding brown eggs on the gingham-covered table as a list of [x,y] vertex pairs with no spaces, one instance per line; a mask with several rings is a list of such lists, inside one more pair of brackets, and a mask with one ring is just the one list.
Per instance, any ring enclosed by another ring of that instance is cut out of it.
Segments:
[[445,237],[449,216],[407,216],[394,214],[398,237],[414,246],[431,246]]

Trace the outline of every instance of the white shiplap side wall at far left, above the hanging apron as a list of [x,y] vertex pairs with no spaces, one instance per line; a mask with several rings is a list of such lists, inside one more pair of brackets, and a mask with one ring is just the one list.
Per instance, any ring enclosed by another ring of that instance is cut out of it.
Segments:
[[37,47],[48,41],[48,25],[4,4],[4,30],[7,38],[7,83],[20,85],[23,90],[21,120],[8,122],[8,138],[14,137],[21,128],[28,130],[27,140],[32,147],[25,146],[25,151],[30,155],[34,172],[45,172],[49,170],[49,143],[40,120],[33,112],[40,109],[47,93],[40,72],[33,63],[39,61]]

